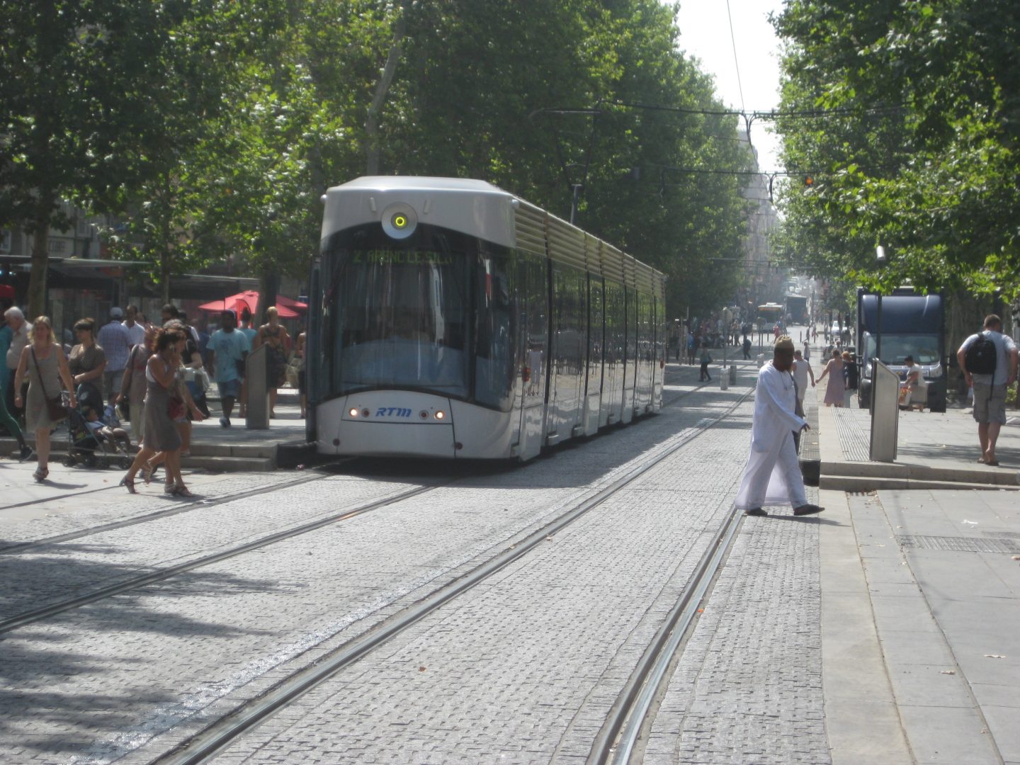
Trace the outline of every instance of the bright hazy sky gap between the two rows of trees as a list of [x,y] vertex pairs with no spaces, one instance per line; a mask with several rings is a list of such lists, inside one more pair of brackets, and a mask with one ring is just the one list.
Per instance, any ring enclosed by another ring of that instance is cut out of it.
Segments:
[[[727,106],[751,112],[779,105],[779,39],[767,19],[770,11],[778,14],[781,10],[782,0],[729,0],[727,15],[726,0],[681,0],[677,16],[680,48],[701,59],[702,69],[715,75],[716,92]],[[742,87],[737,86],[736,64]],[[755,120],[751,125],[751,142],[758,149],[758,166],[762,170],[776,170],[778,141],[768,133],[768,125],[769,122]]]

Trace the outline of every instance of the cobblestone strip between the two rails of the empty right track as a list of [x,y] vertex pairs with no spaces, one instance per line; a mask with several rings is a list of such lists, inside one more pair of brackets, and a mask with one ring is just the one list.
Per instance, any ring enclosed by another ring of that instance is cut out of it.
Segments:
[[746,443],[687,445],[217,762],[584,762],[729,511]]

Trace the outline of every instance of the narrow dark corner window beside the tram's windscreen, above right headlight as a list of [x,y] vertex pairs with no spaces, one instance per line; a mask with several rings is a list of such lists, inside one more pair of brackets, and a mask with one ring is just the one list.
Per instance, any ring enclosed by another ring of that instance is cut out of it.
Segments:
[[474,400],[508,411],[517,366],[513,255],[479,253],[476,272]]

